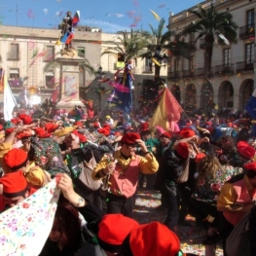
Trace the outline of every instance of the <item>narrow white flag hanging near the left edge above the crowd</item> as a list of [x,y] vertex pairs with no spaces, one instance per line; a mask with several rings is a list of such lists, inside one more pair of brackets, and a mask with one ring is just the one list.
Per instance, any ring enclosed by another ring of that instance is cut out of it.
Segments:
[[13,111],[17,105],[15,96],[8,84],[6,76],[4,75],[4,119],[10,121],[13,118]]

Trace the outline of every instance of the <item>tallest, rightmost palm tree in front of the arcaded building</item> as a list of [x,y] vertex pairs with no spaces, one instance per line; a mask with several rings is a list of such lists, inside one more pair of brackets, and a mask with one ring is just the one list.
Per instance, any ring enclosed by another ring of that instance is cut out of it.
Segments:
[[183,34],[187,35],[191,33],[198,33],[196,42],[200,38],[204,38],[204,76],[205,80],[209,81],[214,40],[217,39],[217,42],[220,42],[221,40],[226,39],[228,40],[225,40],[227,44],[237,43],[238,25],[232,20],[233,16],[230,13],[218,13],[212,3],[210,8],[206,10],[204,10],[201,5],[198,5],[198,8],[199,11],[190,10],[189,12],[197,16],[199,19],[185,27]]

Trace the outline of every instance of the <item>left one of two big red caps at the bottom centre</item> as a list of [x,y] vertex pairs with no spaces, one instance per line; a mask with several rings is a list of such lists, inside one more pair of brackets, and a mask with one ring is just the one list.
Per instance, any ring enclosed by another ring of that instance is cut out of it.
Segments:
[[124,239],[137,227],[135,220],[123,214],[106,214],[98,225],[98,243],[106,251],[121,252]]

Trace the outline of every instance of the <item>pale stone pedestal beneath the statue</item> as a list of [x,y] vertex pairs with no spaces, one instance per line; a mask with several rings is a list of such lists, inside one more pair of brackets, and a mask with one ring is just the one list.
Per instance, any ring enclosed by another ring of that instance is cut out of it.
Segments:
[[59,101],[56,107],[70,109],[83,106],[84,103],[79,98],[79,63],[84,62],[84,58],[63,56],[56,61],[60,64]]

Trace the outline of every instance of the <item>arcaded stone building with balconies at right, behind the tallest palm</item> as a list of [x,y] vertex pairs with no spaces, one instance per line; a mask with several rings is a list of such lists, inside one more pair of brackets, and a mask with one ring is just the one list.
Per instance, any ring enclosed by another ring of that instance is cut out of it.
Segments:
[[209,110],[213,101],[218,107],[243,110],[244,104],[255,87],[255,0],[213,0],[201,3],[203,9],[214,5],[217,12],[230,12],[238,24],[238,44],[214,42],[211,62],[211,85],[204,85],[205,42],[195,41],[197,34],[181,35],[182,30],[197,17],[188,10],[168,18],[168,29],[189,43],[190,60],[170,57],[167,80],[170,90],[185,106]]

